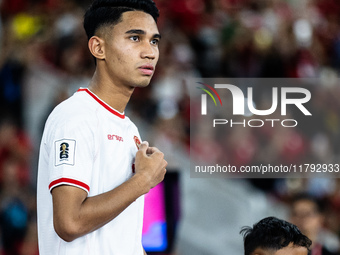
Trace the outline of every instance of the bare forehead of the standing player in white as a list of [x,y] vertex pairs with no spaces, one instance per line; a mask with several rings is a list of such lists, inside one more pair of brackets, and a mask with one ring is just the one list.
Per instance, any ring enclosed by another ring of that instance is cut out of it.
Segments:
[[143,11],[127,11],[122,14],[121,21],[113,28],[113,33],[126,33],[131,29],[139,29],[146,34],[158,34],[158,28],[153,17]]

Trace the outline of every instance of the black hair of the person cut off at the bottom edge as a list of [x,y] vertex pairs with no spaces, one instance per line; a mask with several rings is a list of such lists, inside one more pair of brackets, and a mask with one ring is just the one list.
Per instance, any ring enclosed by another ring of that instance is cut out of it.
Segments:
[[250,255],[256,248],[280,250],[290,243],[309,248],[312,241],[301,233],[297,226],[276,217],[267,217],[251,227],[240,231],[244,240],[244,254]]

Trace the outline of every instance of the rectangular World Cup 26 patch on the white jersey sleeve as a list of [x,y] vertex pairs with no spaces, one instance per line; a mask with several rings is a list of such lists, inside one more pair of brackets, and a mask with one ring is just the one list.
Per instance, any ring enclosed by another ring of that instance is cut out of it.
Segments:
[[71,139],[62,139],[54,142],[55,166],[62,164],[74,165],[76,150],[76,141]]

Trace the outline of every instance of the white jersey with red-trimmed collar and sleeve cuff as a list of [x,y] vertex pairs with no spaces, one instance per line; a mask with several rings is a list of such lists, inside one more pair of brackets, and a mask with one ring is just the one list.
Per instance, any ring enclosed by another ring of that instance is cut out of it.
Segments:
[[140,143],[136,126],[88,89],[49,116],[40,145],[37,206],[40,255],[142,255],[144,196],[103,227],[62,240],[53,227],[51,190],[72,185],[95,196],[133,175]]

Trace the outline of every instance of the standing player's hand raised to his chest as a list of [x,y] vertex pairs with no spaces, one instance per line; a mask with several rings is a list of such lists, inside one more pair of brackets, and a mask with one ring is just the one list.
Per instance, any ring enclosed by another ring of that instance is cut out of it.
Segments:
[[168,162],[164,154],[156,147],[149,147],[148,142],[143,142],[136,153],[136,175],[143,176],[148,190],[163,181]]

